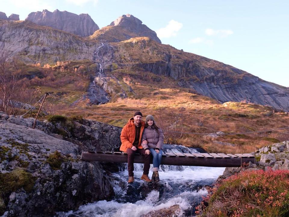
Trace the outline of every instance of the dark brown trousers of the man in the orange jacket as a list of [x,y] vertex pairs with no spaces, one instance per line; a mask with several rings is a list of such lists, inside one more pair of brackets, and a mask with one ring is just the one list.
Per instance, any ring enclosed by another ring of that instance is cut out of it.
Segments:
[[127,168],[129,171],[129,176],[133,176],[133,161],[135,159],[135,153],[140,153],[142,156],[144,156],[144,175],[148,175],[148,171],[150,169],[150,154],[146,154],[144,149],[137,149],[136,151],[133,151],[132,149],[127,149]]

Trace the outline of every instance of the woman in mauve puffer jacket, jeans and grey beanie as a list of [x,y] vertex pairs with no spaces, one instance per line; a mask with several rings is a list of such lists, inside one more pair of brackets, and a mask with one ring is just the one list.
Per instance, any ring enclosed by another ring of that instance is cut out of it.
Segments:
[[158,171],[163,154],[163,131],[154,123],[152,115],[148,115],[145,118],[144,132],[142,133],[141,140],[141,146],[144,148],[146,154],[151,152],[153,155],[154,168],[151,180],[158,182],[160,181]]

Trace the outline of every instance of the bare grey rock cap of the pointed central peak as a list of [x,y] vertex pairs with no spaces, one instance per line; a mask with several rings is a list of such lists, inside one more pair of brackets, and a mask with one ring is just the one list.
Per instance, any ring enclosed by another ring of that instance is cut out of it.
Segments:
[[118,17],[116,20],[111,22],[109,26],[120,26],[129,32],[137,34],[138,36],[149,37],[154,41],[161,43],[155,31],[142,24],[141,20],[132,16],[131,14],[126,14]]

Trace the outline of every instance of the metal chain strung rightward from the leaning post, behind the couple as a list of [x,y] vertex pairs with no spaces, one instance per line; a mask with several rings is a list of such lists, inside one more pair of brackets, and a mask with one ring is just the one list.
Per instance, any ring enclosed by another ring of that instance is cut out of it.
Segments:
[[[76,107],[76,108],[79,108],[79,109],[82,109],[82,110],[86,110],[85,108],[80,107],[80,106],[78,106],[78,105],[75,105],[75,104],[73,104],[73,103],[70,103],[70,102],[68,102],[68,101],[65,100],[65,99],[60,99],[59,96],[55,96],[55,95],[53,95],[53,94],[49,94],[49,95],[52,96],[52,97],[54,97],[54,98],[57,99],[58,101],[63,101],[63,102],[66,102],[66,103],[69,104],[69,105],[72,105],[72,106]],[[89,111],[89,112],[91,112],[91,113],[93,113],[93,114],[95,114],[95,115],[99,115],[99,116],[102,116],[102,117],[105,117],[105,118],[109,118],[109,119],[111,119],[111,120],[118,121],[118,122],[122,122],[122,123],[126,124],[126,122],[124,122],[124,121],[120,121],[120,120],[117,120],[117,119],[115,119],[115,118],[110,118],[110,117],[108,117],[108,116],[106,116],[106,115],[101,115],[101,114],[99,114],[99,113],[97,113],[97,112],[92,112],[92,111]],[[243,133],[222,133],[222,134],[220,134],[220,136],[238,135],[238,134],[266,133],[266,132],[270,132],[270,131],[278,131],[278,130],[284,130],[284,129],[289,129],[289,127],[281,127],[281,128],[274,128],[274,129],[264,130],[264,131],[252,131],[252,132],[243,132]],[[168,130],[167,130],[166,132],[179,133],[179,134],[203,135],[203,136],[212,135],[212,134],[213,134],[213,135],[217,135],[216,133],[190,133],[190,132],[168,131]]]

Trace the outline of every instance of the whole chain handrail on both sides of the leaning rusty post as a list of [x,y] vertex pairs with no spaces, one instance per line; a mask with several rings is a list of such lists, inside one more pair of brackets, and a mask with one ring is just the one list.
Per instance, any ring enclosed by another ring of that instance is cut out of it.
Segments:
[[[91,111],[91,110],[88,110],[86,108],[83,108],[81,106],[78,106],[76,105],[75,103],[71,103],[71,102],[68,102],[66,99],[61,99],[59,96],[56,96],[54,94],[51,94],[49,93],[48,94],[49,96],[53,97],[54,100],[57,100],[59,102],[64,102],[68,105],[71,105],[75,108],[79,108],[81,110],[86,110],[86,111],[89,111],[90,113],[94,114],[94,115],[99,115],[101,117],[104,117],[104,118],[108,118],[110,120],[114,120],[114,121],[117,121],[117,122],[120,122],[120,123],[123,123],[123,124],[126,124],[127,122],[125,121],[122,121],[122,120],[119,120],[119,119],[115,119],[115,118],[111,118],[109,116],[106,116],[106,115],[102,115],[98,112],[94,112],[94,111]],[[35,105],[30,108],[25,114],[23,115],[26,115],[29,111],[31,111],[33,108],[35,108],[35,106],[43,99],[45,95],[43,95],[39,100],[38,102],[35,103]],[[21,115],[21,116],[23,116]],[[267,129],[267,130],[262,130],[262,131],[250,131],[250,132],[238,132],[238,133],[223,133],[223,132],[220,132],[220,133],[215,133],[215,132],[210,132],[210,133],[194,133],[194,132],[183,132],[183,131],[171,131],[171,130],[166,130],[166,132],[170,132],[170,133],[176,133],[176,134],[188,134],[188,135],[201,135],[201,136],[207,136],[207,135],[219,135],[219,136],[226,136],[226,135],[239,135],[239,134],[259,134],[259,133],[268,133],[268,132],[273,132],[273,131],[279,131],[279,130],[286,130],[286,129],[289,129],[289,126],[287,127],[280,127],[280,128],[272,128],[272,129]]]

